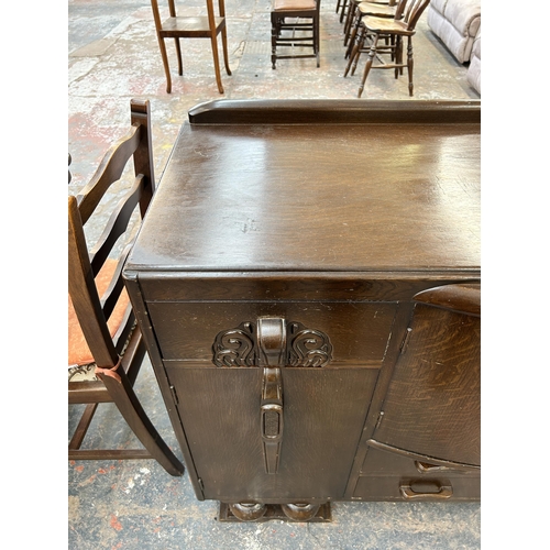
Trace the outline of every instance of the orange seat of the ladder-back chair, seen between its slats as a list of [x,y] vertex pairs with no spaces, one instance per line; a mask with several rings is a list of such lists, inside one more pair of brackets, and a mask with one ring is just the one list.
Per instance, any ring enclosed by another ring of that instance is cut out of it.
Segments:
[[[98,294],[101,296],[112,279],[114,274],[114,270],[117,268],[117,261],[107,260],[101,267],[98,276],[96,277],[96,285],[98,287]],[[127,290],[123,289],[114,309],[107,322],[109,327],[109,332],[111,337],[114,337],[117,331],[119,330],[128,306],[130,305],[130,298],[128,297]],[[82,329],[78,322],[78,318],[75,312],[75,308],[73,307],[73,301],[70,296],[68,298],[68,365],[87,365],[89,363],[94,363],[94,356],[88,348],[88,343],[86,342],[86,338],[84,337]]]

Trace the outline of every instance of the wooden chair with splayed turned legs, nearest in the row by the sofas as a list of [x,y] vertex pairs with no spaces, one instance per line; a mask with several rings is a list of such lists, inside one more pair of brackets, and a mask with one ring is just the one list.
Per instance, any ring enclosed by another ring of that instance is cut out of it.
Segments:
[[[406,0],[402,0],[404,2]],[[397,19],[399,7],[396,10],[394,19],[365,16],[361,22],[361,34],[350,55],[348,66],[344,72],[344,77],[348,76],[350,68],[352,75],[355,73],[359,57],[362,52],[367,53],[367,59],[363,72],[361,86],[359,87],[358,98],[363,94],[366,78],[372,68],[395,70],[395,78],[398,78],[403,73],[403,68],[407,67],[409,96],[413,96],[413,35],[415,28],[428,7],[430,0],[409,0],[403,12],[403,19]],[[371,41],[370,45],[365,46],[365,41]],[[389,44],[380,44],[381,37],[389,37]],[[407,62],[403,61],[403,38],[407,37]],[[381,54],[389,54],[391,63],[386,63]],[[373,65],[376,57],[378,65]]]

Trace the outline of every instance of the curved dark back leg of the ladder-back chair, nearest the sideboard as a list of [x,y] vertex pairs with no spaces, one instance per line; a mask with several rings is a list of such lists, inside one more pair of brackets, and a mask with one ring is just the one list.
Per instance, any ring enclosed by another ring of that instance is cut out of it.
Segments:
[[148,419],[143,410],[141,403],[130,384],[124,370],[119,369],[117,374],[119,377],[109,376],[98,373],[98,376],[103,381],[110,396],[124,417],[124,420],[130,426],[132,431],[138,436],[138,439],[143,443],[151,455],[170,474],[182,475],[184,465],[177,460],[169,447],[164,442],[161,435]]

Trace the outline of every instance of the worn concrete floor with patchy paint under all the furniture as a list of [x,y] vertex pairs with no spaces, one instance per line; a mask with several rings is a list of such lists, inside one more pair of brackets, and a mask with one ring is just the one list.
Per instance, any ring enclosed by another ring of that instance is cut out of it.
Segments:
[[[186,2],[198,13],[202,0]],[[190,107],[220,98],[354,98],[359,74],[343,78],[342,25],[336,2],[321,4],[321,66],[314,59],[270,61],[271,0],[227,0],[230,65],[226,94],[216,87],[207,41],[184,41],[184,72],[173,64],[173,92],[156,42],[151,7],[143,0],[68,3],[69,193],[87,183],[101,156],[129,124],[131,98],[152,105],[156,178],[160,179]],[[415,36],[415,97],[479,99],[458,64],[429,31],[426,13]],[[373,72],[363,98],[407,99],[406,79]],[[182,458],[148,360],[136,392],[151,419]],[[100,406],[86,447],[139,444],[112,405]],[[69,409],[69,431],[80,407]],[[114,432],[111,432],[116,426]],[[188,481],[156,462],[80,461],[68,464],[70,549],[476,549],[479,503],[334,503],[331,524],[222,524],[216,502],[199,502]]]

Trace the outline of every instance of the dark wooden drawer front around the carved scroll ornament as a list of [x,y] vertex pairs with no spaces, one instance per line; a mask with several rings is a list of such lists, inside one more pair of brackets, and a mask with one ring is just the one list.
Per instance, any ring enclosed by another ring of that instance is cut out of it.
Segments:
[[[328,367],[382,365],[397,302],[150,301],[163,360],[212,364],[212,344],[223,331],[262,317],[296,321],[323,332],[332,345]],[[184,365],[182,365],[184,366]]]

